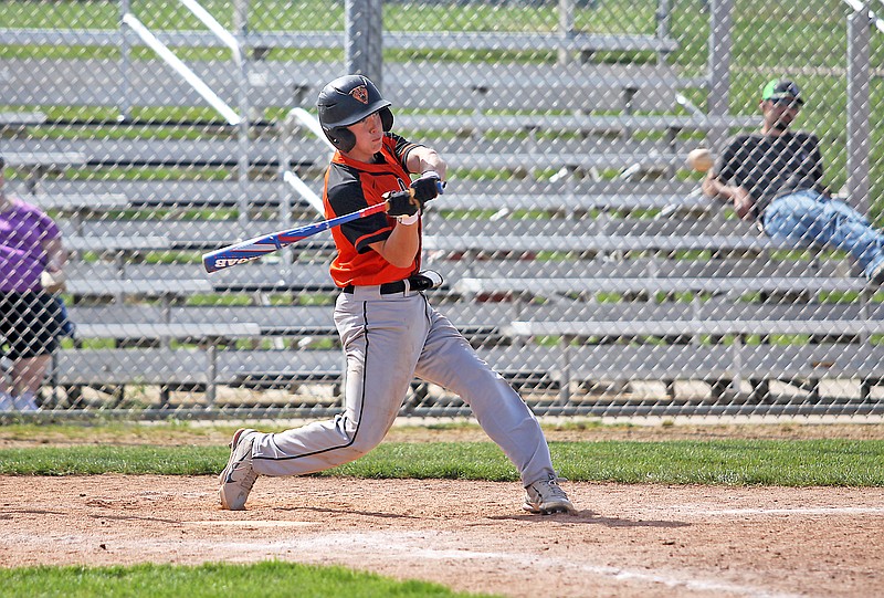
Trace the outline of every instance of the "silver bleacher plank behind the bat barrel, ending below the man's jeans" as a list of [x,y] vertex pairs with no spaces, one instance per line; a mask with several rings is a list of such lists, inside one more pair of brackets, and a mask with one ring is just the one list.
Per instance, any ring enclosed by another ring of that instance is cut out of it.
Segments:
[[[233,220],[152,219],[76,219],[57,220],[65,234],[75,243],[94,243],[99,249],[103,239],[120,249],[208,250],[256,237],[281,228],[296,228],[315,222],[295,220],[286,223],[251,220],[243,225]],[[162,237],[151,237],[161,230]],[[442,251],[671,251],[706,249],[717,251],[766,250],[790,245],[762,235],[756,228],[739,220],[708,218],[680,219],[424,219],[424,248]],[[131,240],[116,238],[129,237]],[[155,240],[151,244],[150,240]],[[160,240],[165,239],[164,244]],[[332,251],[328,232],[305,239],[295,250]]]

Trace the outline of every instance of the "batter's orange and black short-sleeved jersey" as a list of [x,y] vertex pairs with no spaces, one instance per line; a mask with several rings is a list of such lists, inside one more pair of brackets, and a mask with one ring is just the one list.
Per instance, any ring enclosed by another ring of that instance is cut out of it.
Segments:
[[[400,191],[411,183],[406,160],[418,144],[393,133],[385,133],[381,150],[372,164],[351,160],[336,151],[325,176],[323,203],[326,218],[351,213],[383,201],[387,191]],[[409,267],[397,267],[369,245],[386,240],[396,218],[376,213],[332,229],[337,255],[332,277],[338,286],[373,285],[401,281],[420,270],[421,251]],[[421,224],[418,224],[421,225]]]

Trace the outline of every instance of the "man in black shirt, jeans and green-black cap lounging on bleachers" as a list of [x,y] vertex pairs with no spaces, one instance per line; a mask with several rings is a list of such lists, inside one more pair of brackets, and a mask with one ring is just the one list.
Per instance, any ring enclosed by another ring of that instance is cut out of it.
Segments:
[[757,220],[772,239],[849,252],[863,274],[884,282],[884,234],[855,209],[830,197],[815,135],[792,132],[804,103],[792,81],[774,80],[761,93],[761,133],[737,135],[703,181],[743,219]]

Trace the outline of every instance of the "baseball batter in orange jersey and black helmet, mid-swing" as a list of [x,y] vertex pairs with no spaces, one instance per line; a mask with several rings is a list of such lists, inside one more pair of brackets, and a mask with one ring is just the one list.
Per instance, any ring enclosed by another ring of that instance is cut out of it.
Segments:
[[340,288],[335,325],[347,359],[344,412],[281,433],[238,430],[220,475],[221,506],[244,508],[259,475],[303,475],[359,459],[383,440],[418,376],[470,405],[518,469],[523,508],[576,513],[537,419],[424,295],[436,281],[420,273],[421,210],[444,188],[444,160],[391,133],[390,102],[365,76],[330,82],[317,107],[337,148],[325,176],[326,218],[389,203],[332,230],[330,271]]

